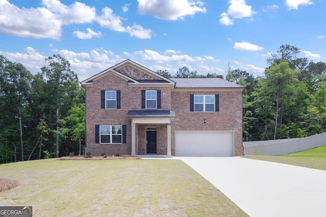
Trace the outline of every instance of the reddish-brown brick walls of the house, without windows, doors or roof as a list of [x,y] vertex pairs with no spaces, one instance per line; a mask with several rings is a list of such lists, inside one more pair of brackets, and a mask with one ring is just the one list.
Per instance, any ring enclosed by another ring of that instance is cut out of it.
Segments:
[[[130,66],[119,69],[121,73],[134,79],[154,79],[150,75]],[[144,84],[146,85],[146,84]],[[101,109],[101,90],[121,90],[121,109]],[[86,87],[86,152],[93,156],[106,153],[109,156],[131,154],[131,121],[127,117],[128,110],[142,110],[141,90],[160,89],[161,109],[171,110],[176,114],[171,123],[171,151],[175,155],[175,131],[209,130],[232,131],[234,137],[234,156],[242,156],[242,92],[241,91],[171,91],[170,86],[129,86],[128,81],[108,73],[93,81],[93,86]],[[191,94],[219,94],[219,112],[189,111]],[[206,119],[206,123],[204,123]],[[127,141],[125,144],[96,144],[95,125],[126,125]],[[157,154],[167,154],[167,126],[136,125],[135,152],[146,154],[146,129],[156,128]]]

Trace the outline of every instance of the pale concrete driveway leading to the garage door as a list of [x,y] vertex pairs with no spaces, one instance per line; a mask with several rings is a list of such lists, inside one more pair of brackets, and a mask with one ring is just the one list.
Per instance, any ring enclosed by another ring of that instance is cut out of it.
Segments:
[[240,157],[174,157],[251,217],[326,216],[326,171]]

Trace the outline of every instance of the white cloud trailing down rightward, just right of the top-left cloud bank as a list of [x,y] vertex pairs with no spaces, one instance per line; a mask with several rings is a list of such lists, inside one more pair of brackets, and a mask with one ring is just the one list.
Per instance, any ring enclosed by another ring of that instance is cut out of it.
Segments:
[[129,33],[131,37],[140,39],[150,39],[152,30],[145,29],[141,25],[133,24],[133,26],[124,27],[122,25],[123,18],[113,13],[111,8],[105,7],[102,9],[102,15],[97,18],[97,22],[101,27],[109,28],[111,30]]

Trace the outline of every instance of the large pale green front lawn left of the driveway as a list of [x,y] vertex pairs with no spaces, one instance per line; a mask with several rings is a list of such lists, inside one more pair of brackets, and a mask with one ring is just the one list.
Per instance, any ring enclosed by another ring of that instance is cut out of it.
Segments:
[[18,187],[0,206],[34,216],[248,216],[179,160],[57,161],[0,165]]

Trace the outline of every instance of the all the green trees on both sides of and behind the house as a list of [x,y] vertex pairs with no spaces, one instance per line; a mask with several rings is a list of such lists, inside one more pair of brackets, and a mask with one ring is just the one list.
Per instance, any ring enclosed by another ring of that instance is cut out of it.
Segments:
[[[297,138],[326,131],[326,64],[282,45],[263,76],[226,69],[226,77],[187,67],[167,78],[221,78],[245,86],[243,141]],[[0,163],[84,154],[85,90],[60,55],[32,75],[0,55]]]

